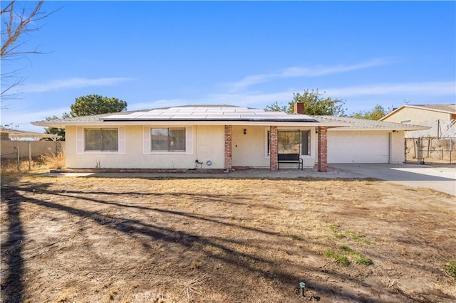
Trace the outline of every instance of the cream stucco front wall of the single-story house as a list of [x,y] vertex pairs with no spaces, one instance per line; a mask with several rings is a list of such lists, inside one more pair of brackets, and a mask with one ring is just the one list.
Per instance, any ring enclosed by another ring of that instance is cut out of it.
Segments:
[[[166,126],[162,126],[166,127]],[[246,134],[244,134],[246,129]],[[280,130],[294,127],[279,127]],[[301,128],[301,130],[304,128]],[[269,127],[232,126],[232,166],[269,168],[267,132]],[[315,127],[309,128],[311,149],[309,156],[301,156],[304,167],[313,168],[318,163],[318,134]],[[80,129],[81,132],[81,129]],[[191,132],[191,133],[190,133]],[[363,132],[364,133],[364,132]],[[376,132],[375,132],[376,133]],[[78,152],[76,127],[66,129],[66,166],[68,168],[93,169],[224,169],[224,126],[198,125],[187,128],[190,144],[187,151],[150,152],[150,142],[145,137],[150,128],[142,125],[125,127],[125,153]],[[367,132],[366,132],[367,134]],[[389,132],[390,162],[404,161],[404,132]],[[146,153],[149,149],[149,153]],[[196,160],[202,164],[196,164]],[[207,164],[211,161],[211,165]],[[295,168],[294,164],[281,164],[282,169]]]

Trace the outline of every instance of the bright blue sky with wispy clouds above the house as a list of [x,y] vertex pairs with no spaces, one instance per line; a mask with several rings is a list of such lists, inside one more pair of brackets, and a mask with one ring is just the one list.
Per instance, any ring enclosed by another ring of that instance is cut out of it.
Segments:
[[43,54],[2,62],[24,83],[2,101],[1,124],[42,132],[29,122],[90,94],[128,110],[264,108],[318,89],[347,114],[456,99],[455,1],[45,1],[43,11],[59,7],[24,37]]

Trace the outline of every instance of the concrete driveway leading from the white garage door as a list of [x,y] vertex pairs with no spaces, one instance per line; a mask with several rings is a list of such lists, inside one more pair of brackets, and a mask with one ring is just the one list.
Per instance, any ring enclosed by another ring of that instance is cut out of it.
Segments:
[[456,196],[456,166],[416,164],[331,164],[362,177],[371,177],[413,187],[431,188]]

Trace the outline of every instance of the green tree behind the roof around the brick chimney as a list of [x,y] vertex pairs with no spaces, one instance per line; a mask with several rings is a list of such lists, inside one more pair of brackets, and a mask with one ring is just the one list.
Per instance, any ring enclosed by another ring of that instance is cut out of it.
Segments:
[[293,113],[296,102],[302,102],[304,103],[304,114],[306,115],[343,116],[345,113],[343,108],[345,101],[323,97],[324,94],[324,92],[321,93],[318,90],[304,90],[302,94],[296,92],[293,94],[293,100],[287,105],[279,105],[276,101],[272,105],[266,106],[265,110]]

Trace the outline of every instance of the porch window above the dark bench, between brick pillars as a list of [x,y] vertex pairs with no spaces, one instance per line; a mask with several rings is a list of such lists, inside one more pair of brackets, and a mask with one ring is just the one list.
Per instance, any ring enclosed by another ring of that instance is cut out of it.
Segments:
[[[309,130],[279,130],[277,133],[279,154],[301,154],[308,156],[310,154]],[[268,131],[268,154],[269,154],[269,131]]]

